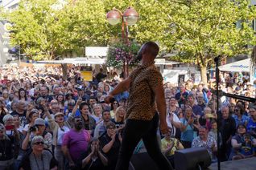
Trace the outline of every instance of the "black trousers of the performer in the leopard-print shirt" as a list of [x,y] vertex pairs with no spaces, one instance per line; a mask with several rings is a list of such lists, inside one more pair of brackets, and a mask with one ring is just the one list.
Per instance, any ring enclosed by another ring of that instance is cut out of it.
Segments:
[[[159,170],[173,169],[159,148],[156,131],[159,125],[159,115],[156,113],[153,119],[137,120],[127,119],[122,136],[122,144],[118,155],[118,164],[115,170],[128,170],[130,157],[139,140],[143,140],[149,156],[155,160]],[[147,163],[145,163],[147,164]]]

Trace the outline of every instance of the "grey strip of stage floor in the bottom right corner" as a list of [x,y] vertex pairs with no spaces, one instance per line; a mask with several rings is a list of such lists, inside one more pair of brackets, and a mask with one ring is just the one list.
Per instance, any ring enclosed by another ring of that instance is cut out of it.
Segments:
[[[210,170],[217,170],[217,163],[211,164]],[[230,160],[221,162],[221,170],[255,170],[256,169],[256,157],[248,158],[245,160]]]

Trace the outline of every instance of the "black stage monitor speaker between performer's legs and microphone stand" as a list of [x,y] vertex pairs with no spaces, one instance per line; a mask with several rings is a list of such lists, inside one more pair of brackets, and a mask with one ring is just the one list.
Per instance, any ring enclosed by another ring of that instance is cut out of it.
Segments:
[[194,170],[208,168],[211,156],[205,148],[187,148],[175,151],[175,170]]

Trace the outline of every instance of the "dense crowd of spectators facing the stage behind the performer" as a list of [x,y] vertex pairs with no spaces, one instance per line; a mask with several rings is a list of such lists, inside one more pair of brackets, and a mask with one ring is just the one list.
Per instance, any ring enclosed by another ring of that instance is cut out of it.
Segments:
[[[114,169],[129,96],[125,91],[105,103],[122,81],[117,73],[101,69],[90,82],[75,66],[68,79],[60,67],[8,66],[0,74],[0,169]],[[255,98],[248,75],[224,73],[220,80],[222,91]],[[175,151],[184,148],[206,148],[216,162],[217,137],[221,161],[255,156],[255,103],[217,99],[211,87],[191,79],[164,83],[164,94],[170,133],[158,136],[173,167]],[[142,140],[134,154],[140,152],[147,152]]]

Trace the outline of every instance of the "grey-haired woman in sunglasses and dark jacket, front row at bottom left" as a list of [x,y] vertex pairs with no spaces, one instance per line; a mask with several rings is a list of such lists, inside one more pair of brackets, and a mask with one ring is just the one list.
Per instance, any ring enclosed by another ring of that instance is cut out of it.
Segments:
[[56,170],[58,162],[47,149],[43,148],[44,140],[42,136],[35,136],[31,141],[31,151],[23,157],[19,170],[31,169],[51,169]]

